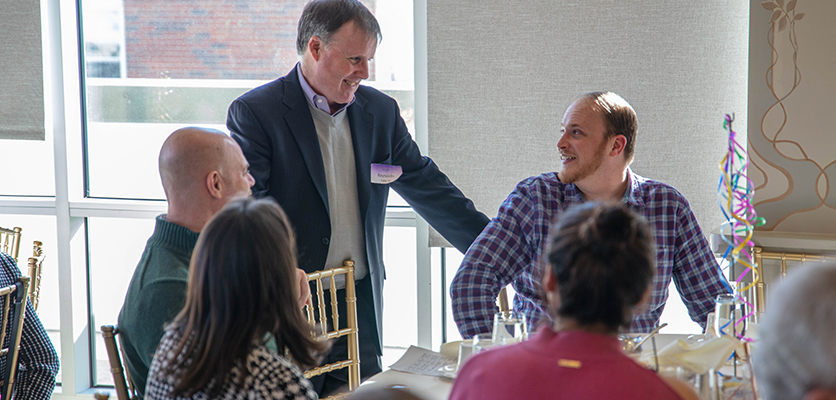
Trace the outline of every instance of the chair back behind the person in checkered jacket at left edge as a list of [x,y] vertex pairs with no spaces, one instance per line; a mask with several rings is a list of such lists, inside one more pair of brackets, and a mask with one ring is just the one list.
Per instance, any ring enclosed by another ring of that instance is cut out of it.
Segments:
[[20,353],[20,337],[23,333],[23,320],[26,318],[26,291],[29,288],[29,277],[22,276],[13,285],[0,288],[0,303],[3,307],[3,322],[0,327],[0,344],[6,344],[6,328],[11,323],[8,345],[0,349],[0,356],[5,357],[6,370],[2,371],[0,395],[4,399],[11,399],[17,374],[17,360]]

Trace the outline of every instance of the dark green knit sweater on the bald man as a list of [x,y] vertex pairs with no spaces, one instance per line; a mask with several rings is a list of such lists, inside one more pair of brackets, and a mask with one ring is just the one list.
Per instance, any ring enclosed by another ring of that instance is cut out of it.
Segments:
[[157,217],[119,313],[126,367],[141,396],[165,324],[183,308],[189,261],[199,234]]

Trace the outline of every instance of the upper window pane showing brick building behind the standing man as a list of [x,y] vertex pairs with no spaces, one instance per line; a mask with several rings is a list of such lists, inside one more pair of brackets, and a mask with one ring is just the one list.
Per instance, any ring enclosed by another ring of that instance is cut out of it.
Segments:
[[[186,125],[226,131],[232,100],[288,73],[304,3],[82,0],[87,194],[164,199],[162,142]],[[366,4],[385,37],[366,84],[414,131],[412,2]]]

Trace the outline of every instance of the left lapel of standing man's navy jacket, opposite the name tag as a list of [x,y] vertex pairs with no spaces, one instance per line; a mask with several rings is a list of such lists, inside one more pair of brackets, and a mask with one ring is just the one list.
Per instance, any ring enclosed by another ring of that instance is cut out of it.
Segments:
[[[299,83],[298,73],[296,69],[287,75],[284,85],[284,104],[288,108],[284,119],[287,126],[290,127],[290,132],[296,143],[299,145],[299,151],[302,153],[302,158],[305,160],[305,165],[308,167],[308,173],[311,174],[316,190],[325,204],[325,209],[328,210],[328,187],[325,183],[325,167],[322,162],[322,150],[319,148],[319,138],[316,134],[316,126],[313,123],[311,110],[308,108],[308,101],[305,100],[305,93],[302,91],[302,86]],[[330,214],[330,210],[328,210]]]

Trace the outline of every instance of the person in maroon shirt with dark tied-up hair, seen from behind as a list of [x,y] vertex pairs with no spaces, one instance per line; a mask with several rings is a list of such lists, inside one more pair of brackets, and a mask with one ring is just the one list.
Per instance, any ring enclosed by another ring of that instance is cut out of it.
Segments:
[[620,328],[655,273],[647,222],[622,204],[586,203],[553,225],[541,285],[552,318],[528,341],[474,355],[450,399],[691,399],[621,351]]

